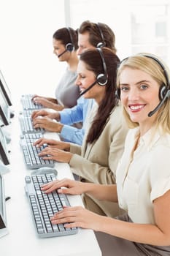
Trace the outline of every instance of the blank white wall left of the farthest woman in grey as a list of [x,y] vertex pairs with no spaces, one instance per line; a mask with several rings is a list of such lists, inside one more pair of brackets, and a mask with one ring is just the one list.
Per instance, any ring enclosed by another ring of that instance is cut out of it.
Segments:
[[53,33],[65,26],[64,2],[0,0],[0,69],[12,92],[53,96],[65,67],[53,54]]

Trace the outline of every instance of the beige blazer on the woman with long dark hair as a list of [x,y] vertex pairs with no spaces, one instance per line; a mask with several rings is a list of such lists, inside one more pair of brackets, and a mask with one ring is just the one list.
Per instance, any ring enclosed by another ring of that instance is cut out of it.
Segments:
[[[95,113],[96,109],[93,109],[91,120]],[[85,136],[82,146],[71,144],[70,151],[74,155],[69,164],[72,172],[80,176],[80,181],[83,182],[115,184],[115,171],[123,154],[127,132],[123,108],[119,105],[113,109],[103,132],[95,143],[86,143]],[[96,200],[89,195],[82,195],[82,198],[85,207],[98,214],[115,217],[123,212],[120,211],[117,203]]]

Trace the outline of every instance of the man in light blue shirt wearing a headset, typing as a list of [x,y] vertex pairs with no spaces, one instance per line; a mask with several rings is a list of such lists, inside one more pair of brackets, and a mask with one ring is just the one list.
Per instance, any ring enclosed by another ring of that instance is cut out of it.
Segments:
[[[84,50],[104,46],[116,53],[115,34],[112,29],[105,23],[93,23],[89,20],[82,22],[78,29],[77,54],[80,55]],[[93,102],[93,99],[80,97],[77,100],[77,105],[73,108],[65,108],[55,113],[48,112],[47,110],[36,110],[31,116],[34,128],[58,132],[61,140],[82,145],[88,122],[88,113],[93,106]],[[39,116],[43,118],[39,118]],[[71,127],[77,121],[82,121],[81,129]]]

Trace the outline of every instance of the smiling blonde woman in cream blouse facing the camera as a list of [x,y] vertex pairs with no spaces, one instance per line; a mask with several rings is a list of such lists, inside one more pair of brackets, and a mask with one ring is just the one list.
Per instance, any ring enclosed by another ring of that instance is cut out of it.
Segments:
[[118,96],[131,129],[116,171],[116,184],[53,181],[43,190],[88,193],[119,203],[126,213],[115,219],[87,209],[64,208],[53,223],[112,235],[112,255],[170,255],[170,83],[169,68],[150,54],[125,59],[117,72]]

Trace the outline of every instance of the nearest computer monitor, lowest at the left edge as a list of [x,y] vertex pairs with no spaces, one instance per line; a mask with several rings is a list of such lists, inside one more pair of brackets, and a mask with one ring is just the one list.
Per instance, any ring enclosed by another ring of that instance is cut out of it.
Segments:
[[0,173],[0,238],[7,235],[7,218],[4,195],[4,178]]

